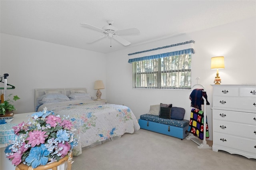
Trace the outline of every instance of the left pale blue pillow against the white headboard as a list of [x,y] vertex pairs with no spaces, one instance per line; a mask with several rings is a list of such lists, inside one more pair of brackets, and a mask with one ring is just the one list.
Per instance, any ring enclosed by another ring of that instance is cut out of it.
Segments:
[[63,95],[61,93],[48,93],[38,97],[38,103],[60,101],[70,101],[70,99],[66,95]]

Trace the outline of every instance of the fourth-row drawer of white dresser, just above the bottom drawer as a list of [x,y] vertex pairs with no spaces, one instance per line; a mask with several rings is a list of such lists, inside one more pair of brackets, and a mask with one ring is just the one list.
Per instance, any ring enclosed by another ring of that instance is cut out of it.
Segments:
[[232,134],[256,140],[256,126],[216,120],[213,124],[215,132]]

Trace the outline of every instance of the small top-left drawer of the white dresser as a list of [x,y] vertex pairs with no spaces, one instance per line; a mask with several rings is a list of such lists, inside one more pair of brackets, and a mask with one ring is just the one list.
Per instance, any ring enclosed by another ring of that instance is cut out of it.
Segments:
[[214,87],[213,95],[238,96],[238,87]]

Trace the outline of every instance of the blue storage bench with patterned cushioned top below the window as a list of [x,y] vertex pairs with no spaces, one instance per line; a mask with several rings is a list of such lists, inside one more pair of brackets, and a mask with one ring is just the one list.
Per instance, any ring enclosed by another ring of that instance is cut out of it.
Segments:
[[140,128],[174,136],[181,140],[188,136],[188,120],[176,120],[176,119],[163,119],[154,115],[140,115],[139,119]]

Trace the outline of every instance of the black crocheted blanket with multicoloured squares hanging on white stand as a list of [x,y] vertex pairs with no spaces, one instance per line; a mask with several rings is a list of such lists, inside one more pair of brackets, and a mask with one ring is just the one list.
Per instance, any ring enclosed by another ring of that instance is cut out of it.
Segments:
[[[192,109],[190,114],[190,122],[188,132],[194,134],[200,139],[204,139],[204,111]],[[209,130],[206,116],[206,138],[209,138]]]

